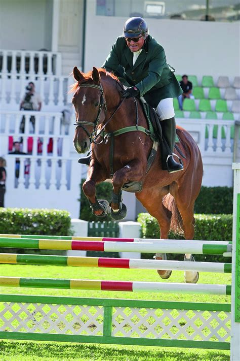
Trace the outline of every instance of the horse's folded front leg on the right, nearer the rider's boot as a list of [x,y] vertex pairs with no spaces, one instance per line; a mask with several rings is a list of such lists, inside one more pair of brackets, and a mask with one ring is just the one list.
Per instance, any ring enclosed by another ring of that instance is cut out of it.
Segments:
[[126,217],[127,208],[123,203],[122,187],[129,181],[139,181],[143,178],[145,170],[139,160],[132,160],[128,165],[116,171],[112,178],[112,199],[110,214],[115,220]]

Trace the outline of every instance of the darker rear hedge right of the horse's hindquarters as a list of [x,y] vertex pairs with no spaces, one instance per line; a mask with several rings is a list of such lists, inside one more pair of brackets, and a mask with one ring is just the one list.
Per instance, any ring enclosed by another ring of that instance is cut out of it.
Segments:
[[196,199],[195,213],[204,214],[232,214],[233,188],[232,187],[201,187]]

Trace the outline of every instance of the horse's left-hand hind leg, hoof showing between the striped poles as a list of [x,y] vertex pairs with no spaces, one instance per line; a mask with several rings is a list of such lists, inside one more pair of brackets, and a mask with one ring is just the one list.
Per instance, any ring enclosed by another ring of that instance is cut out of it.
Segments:
[[[161,231],[161,239],[168,238],[171,223],[170,218],[167,215],[166,208],[162,203],[163,196],[167,193],[167,189],[161,195],[159,195],[159,189],[157,189],[157,192],[155,193],[152,191],[142,191],[141,193],[136,193],[136,198],[147,209],[149,214],[157,219]],[[152,200],[154,200],[154,202]],[[156,253],[155,259],[167,259],[167,255],[166,253]],[[157,273],[161,278],[168,279],[171,276],[172,271],[157,270]]]

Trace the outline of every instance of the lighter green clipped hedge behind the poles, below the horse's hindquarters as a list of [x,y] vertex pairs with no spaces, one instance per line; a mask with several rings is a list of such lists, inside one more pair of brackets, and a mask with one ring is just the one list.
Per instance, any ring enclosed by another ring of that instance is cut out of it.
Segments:
[[[148,213],[140,213],[138,222],[142,227],[143,238],[160,238],[160,230],[157,220]],[[184,239],[170,233],[170,239]],[[195,240],[206,241],[231,241],[232,240],[232,215],[230,214],[195,214]],[[142,258],[151,258],[153,254],[142,253]],[[218,255],[195,255],[195,260],[227,262],[229,258]],[[183,255],[172,254],[169,259],[182,259]]]

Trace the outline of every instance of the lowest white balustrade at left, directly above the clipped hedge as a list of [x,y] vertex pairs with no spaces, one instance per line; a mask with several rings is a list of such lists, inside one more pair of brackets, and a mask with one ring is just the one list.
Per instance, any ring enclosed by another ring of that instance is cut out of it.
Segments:
[[81,165],[76,159],[8,154],[6,161],[6,207],[65,209],[78,218]]

